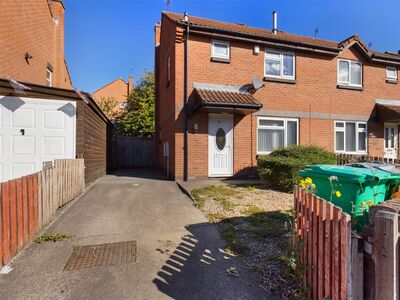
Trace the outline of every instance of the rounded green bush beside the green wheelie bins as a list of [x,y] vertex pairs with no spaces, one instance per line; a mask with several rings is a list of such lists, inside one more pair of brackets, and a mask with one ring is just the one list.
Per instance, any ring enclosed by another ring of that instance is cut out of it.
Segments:
[[315,146],[289,146],[270,155],[259,156],[258,171],[272,188],[292,191],[299,181],[299,171],[306,165],[336,164],[336,155]]

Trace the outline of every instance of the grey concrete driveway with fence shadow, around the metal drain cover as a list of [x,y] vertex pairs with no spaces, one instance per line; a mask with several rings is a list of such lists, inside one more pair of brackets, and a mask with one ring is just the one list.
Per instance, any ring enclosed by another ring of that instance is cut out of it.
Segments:
[[[74,237],[32,243],[0,275],[1,299],[267,298],[255,274],[220,251],[216,227],[155,170],[102,178],[47,232]],[[137,242],[136,262],[63,271],[74,247],[122,241]]]

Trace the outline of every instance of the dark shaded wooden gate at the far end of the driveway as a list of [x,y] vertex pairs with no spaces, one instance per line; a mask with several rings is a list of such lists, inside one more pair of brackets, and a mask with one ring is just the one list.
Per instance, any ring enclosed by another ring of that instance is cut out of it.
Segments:
[[153,138],[116,136],[113,147],[114,167],[117,169],[155,167]]

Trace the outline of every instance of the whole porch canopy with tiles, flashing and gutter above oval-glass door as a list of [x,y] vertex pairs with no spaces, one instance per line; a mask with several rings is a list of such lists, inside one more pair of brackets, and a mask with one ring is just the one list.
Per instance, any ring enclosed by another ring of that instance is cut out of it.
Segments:
[[247,115],[262,107],[246,87],[193,84],[193,88],[194,111],[223,111]]

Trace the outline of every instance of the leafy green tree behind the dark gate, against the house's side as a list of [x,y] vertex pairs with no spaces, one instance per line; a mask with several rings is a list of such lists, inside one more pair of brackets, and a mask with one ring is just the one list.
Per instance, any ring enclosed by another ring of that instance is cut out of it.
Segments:
[[126,113],[117,119],[121,135],[153,137],[155,131],[155,80],[145,72],[128,97]]

